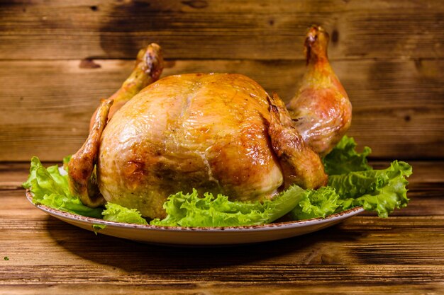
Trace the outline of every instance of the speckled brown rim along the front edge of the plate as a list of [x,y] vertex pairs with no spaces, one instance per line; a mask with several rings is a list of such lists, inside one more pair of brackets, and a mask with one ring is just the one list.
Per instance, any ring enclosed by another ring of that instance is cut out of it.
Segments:
[[70,219],[71,221],[84,221],[91,223],[91,225],[106,225],[106,226],[116,226],[123,228],[132,228],[132,229],[143,229],[150,231],[211,231],[211,232],[227,232],[227,231],[270,231],[273,229],[284,229],[284,228],[296,228],[301,226],[316,225],[323,224],[325,222],[331,221],[332,219],[338,219],[340,217],[346,216],[355,216],[361,212],[364,212],[365,209],[362,206],[353,207],[351,209],[345,210],[343,212],[338,212],[327,216],[326,218],[318,217],[313,219],[304,219],[300,221],[282,221],[271,224],[260,224],[260,225],[251,225],[251,226],[196,226],[196,227],[186,227],[186,226],[155,226],[150,224],[128,224],[123,222],[116,221],[106,221],[103,219],[97,219],[94,217],[82,216],[79,214],[73,214],[71,212],[65,212],[60,209],[54,209],[48,207],[43,204],[35,204],[33,202],[33,193],[27,189],[26,190],[26,198],[28,201],[42,210],[47,214],[54,214],[55,216],[59,216],[65,219]]

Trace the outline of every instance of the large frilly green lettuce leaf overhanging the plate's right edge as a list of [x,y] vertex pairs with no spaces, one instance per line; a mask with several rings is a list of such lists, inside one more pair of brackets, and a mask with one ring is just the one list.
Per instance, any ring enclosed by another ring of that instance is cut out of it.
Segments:
[[406,177],[411,173],[408,163],[394,161],[387,169],[331,175],[327,187],[306,190],[290,216],[294,220],[326,217],[362,206],[367,211],[377,212],[379,217],[387,217],[409,202]]

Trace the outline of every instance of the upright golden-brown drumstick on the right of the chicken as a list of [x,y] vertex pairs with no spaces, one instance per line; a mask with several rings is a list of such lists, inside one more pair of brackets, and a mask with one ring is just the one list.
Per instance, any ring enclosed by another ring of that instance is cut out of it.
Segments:
[[328,62],[328,33],[313,25],[304,50],[307,69],[287,108],[304,141],[325,156],[350,127],[352,105],[347,93]]

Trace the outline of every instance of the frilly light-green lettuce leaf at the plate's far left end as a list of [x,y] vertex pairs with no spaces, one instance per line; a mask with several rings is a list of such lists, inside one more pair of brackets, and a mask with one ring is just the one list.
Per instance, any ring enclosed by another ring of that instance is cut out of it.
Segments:
[[71,195],[67,175],[61,175],[57,165],[43,167],[37,157],[30,163],[30,173],[23,187],[33,193],[33,202],[65,212],[101,218],[103,208],[89,208]]

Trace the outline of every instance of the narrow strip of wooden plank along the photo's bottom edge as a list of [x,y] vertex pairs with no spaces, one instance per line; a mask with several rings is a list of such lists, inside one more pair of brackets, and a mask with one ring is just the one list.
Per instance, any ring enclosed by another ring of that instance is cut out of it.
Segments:
[[280,283],[280,284],[245,284],[245,283],[224,283],[223,286],[218,282],[189,282],[188,284],[170,284],[164,286],[147,286],[144,284],[82,284],[73,285],[69,283],[44,285],[44,284],[14,284],[4,286],[5,295],[48,295],[48,294],[84,294],[84,295],[105,295],[105,294],[146,294],[147,291],[152,295],[196,295],[196,294],[214,294],[214,295],[257,295],[257,294],[276,294],[292,295],[300,294],[404,294],[404,295],[439,295],[444,291],[443,283],[440,282],[422,282],[421,284],[341,284],[329,283],[304,286],[301,284]]

